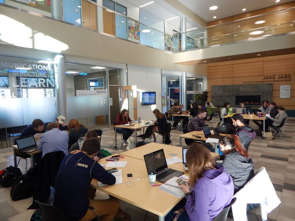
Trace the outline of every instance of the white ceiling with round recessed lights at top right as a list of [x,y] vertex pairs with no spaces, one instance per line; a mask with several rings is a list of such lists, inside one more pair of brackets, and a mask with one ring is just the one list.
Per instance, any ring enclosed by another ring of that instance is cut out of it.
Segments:
[[[248,11],[263,9],[266,7],[283,4],[293,0],[281,0],[276,3],[275,0],[178,0],[181,4],[191,9],[207,22],[217,19],[242,14]],[[218,6],[216,10],[209,10],[211,6]],[[247,9],[242,11],[242,9]]]

